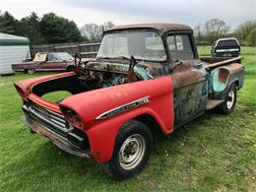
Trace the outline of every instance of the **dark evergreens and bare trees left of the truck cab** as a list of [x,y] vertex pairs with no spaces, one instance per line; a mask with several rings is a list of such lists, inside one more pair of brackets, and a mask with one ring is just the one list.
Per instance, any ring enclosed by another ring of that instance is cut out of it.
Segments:
[[73,22],[54,13],[44,14],[39,18],[34,12],[21,20],[15,19],[9,12],[0,12],[0,32],[27,36],[32,44],[50,44],[65,42],[98,42],[102,32],[114,25],[87,24],[81,29]]

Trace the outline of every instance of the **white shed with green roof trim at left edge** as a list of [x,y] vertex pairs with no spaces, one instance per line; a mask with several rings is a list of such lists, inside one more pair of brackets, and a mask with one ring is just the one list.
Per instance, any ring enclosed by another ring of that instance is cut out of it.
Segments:
[[12,64],[31,58],[27,37],[0,32],[0,74],[13,73]]

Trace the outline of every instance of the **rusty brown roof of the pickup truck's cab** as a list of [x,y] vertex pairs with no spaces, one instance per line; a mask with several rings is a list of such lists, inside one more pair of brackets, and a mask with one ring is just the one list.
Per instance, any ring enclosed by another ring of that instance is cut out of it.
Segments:
[[153,29],[160,32],[171,32],[171,31],[193,31],[189,26],[182,24],[172,23],[150,23],[150,24],[134,24],[126,26],[117,26],[106,32],[114,32],[119,30],[132,30],[132,29]]

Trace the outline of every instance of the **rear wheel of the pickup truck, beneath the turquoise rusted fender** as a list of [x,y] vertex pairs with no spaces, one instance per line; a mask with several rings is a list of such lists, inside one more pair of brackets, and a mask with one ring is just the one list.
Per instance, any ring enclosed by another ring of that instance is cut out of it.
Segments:
[[228,88],[226,96],[224,97],[224,102],[217,106],[217,111],[221,114],[230,114],[236,103],[236,86],[231,84]]

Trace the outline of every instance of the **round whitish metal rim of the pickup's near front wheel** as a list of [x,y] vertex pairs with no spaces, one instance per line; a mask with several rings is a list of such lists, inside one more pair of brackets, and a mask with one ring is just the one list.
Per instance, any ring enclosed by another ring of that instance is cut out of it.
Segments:
[[122,168],[130,170],[136,167],[145,154],[146,142],[139,135],[134,134],[128,137],[119,151],[119,162]]

